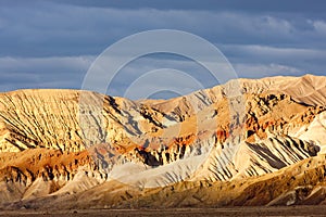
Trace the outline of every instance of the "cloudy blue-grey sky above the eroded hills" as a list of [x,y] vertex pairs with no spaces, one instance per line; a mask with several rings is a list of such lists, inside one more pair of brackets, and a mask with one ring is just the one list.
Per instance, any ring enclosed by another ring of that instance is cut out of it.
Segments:
[[[0,91],[83,89],[89,67],[108,47],[153,29],[202,37],[238,77],[326,75],[325,11],[323,0],[0,0]],[[161,53],[125,65],[106,93],[124,95],[133,81],[160,68],[188,73],[204,88],[217,85],[196,62]],[[150,93],[167,98],[166,91]]]

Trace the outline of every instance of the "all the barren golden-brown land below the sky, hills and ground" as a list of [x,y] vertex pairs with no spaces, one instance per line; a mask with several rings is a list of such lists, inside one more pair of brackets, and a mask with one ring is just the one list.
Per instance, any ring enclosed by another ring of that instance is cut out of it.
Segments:
[[0,93],[0,215],[313,216],[325,205],[326,77],[237,79],[171,100]]

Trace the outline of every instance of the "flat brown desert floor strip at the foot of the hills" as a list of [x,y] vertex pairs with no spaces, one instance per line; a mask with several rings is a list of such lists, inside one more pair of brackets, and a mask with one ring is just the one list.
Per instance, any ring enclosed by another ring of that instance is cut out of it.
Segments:
[[0,216],[326,216],[326,206],[177,209],[0,210]]

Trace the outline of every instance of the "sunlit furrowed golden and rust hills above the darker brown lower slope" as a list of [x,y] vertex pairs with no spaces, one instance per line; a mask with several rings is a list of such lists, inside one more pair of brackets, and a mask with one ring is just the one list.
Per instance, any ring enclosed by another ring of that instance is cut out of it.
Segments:
[[1,93],[0,199],[27,203],[118,183],[128,201],[124,186],[142,192],[273,175],[325,153],[325,90],[326,77],[306,75],[238,79],[166,101]]

